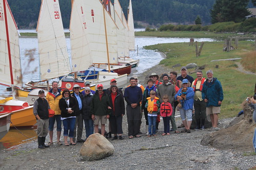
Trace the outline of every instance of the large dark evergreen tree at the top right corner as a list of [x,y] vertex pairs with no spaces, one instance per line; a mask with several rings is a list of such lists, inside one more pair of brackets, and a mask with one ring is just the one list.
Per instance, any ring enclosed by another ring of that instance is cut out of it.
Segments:
[[247,9],[249,0],[217,0],[211,10],[211,22],[241,22],[250,12]]

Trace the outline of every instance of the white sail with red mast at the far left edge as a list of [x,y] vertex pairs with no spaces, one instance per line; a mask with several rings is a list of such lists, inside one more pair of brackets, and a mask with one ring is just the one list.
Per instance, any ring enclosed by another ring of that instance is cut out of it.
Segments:
[[[9,49],[7,36],[10,44]],[[9,52],[11,54],[13,82],[10,72]],[[22,86],[21,75],[17,26],[7,1],[0,0],[0,82],[8,85],[13,83],[16,86]]]

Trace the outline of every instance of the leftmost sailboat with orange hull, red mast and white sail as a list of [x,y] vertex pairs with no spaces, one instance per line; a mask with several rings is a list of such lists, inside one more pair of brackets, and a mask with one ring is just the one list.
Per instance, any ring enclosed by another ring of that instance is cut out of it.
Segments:
[[33,106],[15,97],[14,85],[22,85],[19,33],[7,0],[0,0],[0,14],[0,81],[12,89],[12,98],[0,98],[0,113],[12,112],[12,126],[33,126]]

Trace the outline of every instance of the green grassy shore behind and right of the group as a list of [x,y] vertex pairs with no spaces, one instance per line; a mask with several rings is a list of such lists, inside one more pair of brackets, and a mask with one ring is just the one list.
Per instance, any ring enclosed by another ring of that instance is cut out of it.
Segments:
[[[241,60],[211,62],[211,60],[245,57],[246,54],[254,50],[252,41],[239,41],[238,49],[230,52],[222,51],[223,44],[224,41],[205,42],[200,57],[195,56],[195,46],[189,46],[189,43],[165,43],[146,46],[145,48],[165,53],[166,59],[162,60],[160,64],[168,67],[176,64],[184,66],[188,63],[196,63],[198,66],[205,65],[204,77],[206,77],[206,70],[212,69],[213,76],[218,78],[223,86],[224,101],[220,118],[226,118],[236,116],[242,110],[241,103],[247,96],[254,94],[256,76],[245,74],[237,69],[237,62],[241,62]],[[255,67],[255,62],[256,57],[254,56],[250,58],[247,64]],[[173,70],[178,72],[180,72],[179,69],[180,67],[173,67]],[[194,69],[188,69],[188,71],[193,72]],[[190,75],[196,78],[195,73]]]

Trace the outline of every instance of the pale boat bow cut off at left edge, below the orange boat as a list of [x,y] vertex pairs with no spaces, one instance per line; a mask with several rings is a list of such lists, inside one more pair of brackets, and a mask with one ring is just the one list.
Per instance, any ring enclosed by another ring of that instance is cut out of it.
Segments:
[[0,113],[0,139],[2,139],[10,129],[11,113]]

